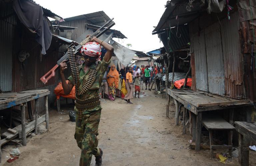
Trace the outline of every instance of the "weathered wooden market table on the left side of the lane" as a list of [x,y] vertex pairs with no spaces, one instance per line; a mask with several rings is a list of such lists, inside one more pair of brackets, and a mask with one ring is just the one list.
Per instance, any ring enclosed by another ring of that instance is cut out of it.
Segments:
[[[26,113],[25,113],[25,106],[27,102],[31,100],[35,100],[35,122],[34,122],[34,129],[35,134],[37,134],[37,125],[38,125],[38,109],[39,109],[39,102],[38,99],[40,97],[45,98],[45,121],[46,121],[46,129],[49,128],[49,115],[48,115],[48,94],[50,91],[48,89],[42,90],[27,90],[21,91],[17,93],[1,93],[0,94],[0,110],[10,108],[13,106],[20,106],[21,107],[21,130],[22,130],[22,144],[24,146],[27,145],[26,143]],[[1,139],[1,138],[0,138]],[[3,141],[1,141],[1,145]],[[0,146],[0,156],[1,156],[1,146]],[[1,162],[1,159],[0,159]]]

